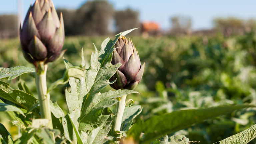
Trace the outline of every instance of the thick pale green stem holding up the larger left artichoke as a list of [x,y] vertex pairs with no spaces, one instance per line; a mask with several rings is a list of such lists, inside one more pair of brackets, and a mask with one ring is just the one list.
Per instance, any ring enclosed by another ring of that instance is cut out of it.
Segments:
[[50,109],[50,94],[47,94],[46,85],[47,64],[39,64],[36,72],[36,88],[40,103],[41,118],[48,119],[48,128],[53,129]]

